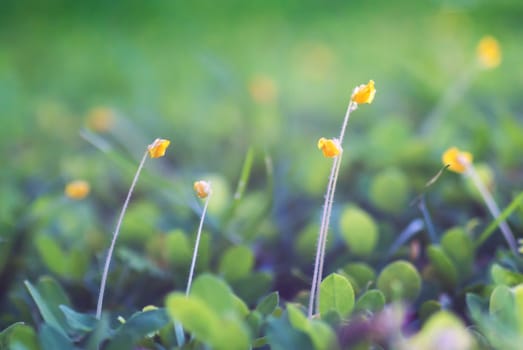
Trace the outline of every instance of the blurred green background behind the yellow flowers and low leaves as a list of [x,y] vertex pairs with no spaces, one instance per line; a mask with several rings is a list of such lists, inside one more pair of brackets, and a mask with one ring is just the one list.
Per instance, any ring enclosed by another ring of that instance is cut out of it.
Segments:
[[[154,232],[192,232],[192,181],[209,178],[218,193],[209,230],[227,238],[213,244],[248,244],[256,267],[274,272],[273,286],[292,295],[306,284],[290,271],[312,267],[315,236],[307,232],[316,232],[310,226],[319,222],[331,165],[316,142],[338,135],[352,89],[369,79],[376,99],[351,116],[335,220],[346,205],[364,208],[370,225],[379,223],[378,251],[385,251],[420,215],[409,203],[452,145],[488,164],[503,207],[523,178],[521,18],[518,0],[2,1],[2,297],[16,294],[20,279],[49,273],[41,263],[48,242],[36,238],[48,235],[65,251],[89,248],[78,270],[54,272],[87,281],[76,295],[92,308],[109,232],[135,164],[156,137],[171,148],[148,162],[122,245],[155,261],[162,242],[153,242]],[[422,135],[487,34],[499,40],[502,64],[471,76]],[[250,147],[251,178],[229,220]],[[77,178],[92,188],[79,203],[63,198],[64,184]],[[476,215],[488,223],[462,185],[446,174],[431,188],[439,231]]]

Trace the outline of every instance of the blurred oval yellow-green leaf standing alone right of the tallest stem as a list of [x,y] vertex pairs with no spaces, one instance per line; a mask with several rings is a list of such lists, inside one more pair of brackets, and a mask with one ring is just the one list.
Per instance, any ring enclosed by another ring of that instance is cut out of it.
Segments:
[[343,210],[340,232],[347,247],[356,255],[369,255],[378,242],[378,226],[367,212],[354,206]]

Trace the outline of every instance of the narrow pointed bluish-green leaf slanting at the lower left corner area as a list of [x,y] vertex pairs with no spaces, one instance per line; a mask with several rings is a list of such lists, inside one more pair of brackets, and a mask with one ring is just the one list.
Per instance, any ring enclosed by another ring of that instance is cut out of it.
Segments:
[[67,324],[65,322],[65,316],[58,308],[58,305],[60,305],[61,303],[55,303],[56,300],[61,297],[56,297],[56,295],[52,295],[52,298],[50,300],[46,297],[46,295],[50,295],[50,291],[52,290],[52,288],[48,288],[47,292],[44,294],[40,293],[40,288],[36,288],[31,284],[31,282],[25,281],[24,283],[27,290],[29,291],[29,294],[31,294],[31,297],[33,298],[36,306],[38,307],[38,310],[40,311],[40,314],[42,315],[44,321],[48,323],[50,326],[54,327],[54,329],[60,332],[64,337],[67,337]]

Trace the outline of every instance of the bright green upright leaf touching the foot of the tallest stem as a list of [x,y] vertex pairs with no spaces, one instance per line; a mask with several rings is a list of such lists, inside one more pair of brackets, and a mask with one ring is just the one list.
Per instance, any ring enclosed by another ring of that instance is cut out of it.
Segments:
[[354,308],[354,290],[349,280],[340,274],[327,276],[320,285],[319,309],[321,317],[335,312],[347,317]]

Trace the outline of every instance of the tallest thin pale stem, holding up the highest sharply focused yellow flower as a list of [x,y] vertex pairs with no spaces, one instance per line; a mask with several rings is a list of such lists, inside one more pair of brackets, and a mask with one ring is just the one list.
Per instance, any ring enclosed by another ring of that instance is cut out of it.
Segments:
[[[345,130],[347,129],[347,124],[349,121],[350,113],[357,108],[357,103],[352,100],[347,106],[347,111],[345,112],[345,118],[343,119],[343,124],[341,127],[339,143],[343,143],[343,138],[345,136]],[[342,153],[343,154],[343,153]],[[318,235],[318,244],[316,249],[316,259],[314,262],[314,274],[312,278],[311,293],[309,296],[309,309],[308,317],[312,318],[313,312],[318,312],[319,310],[319,296],[320,296],[320,283],[323,275],[323,263],[325,260],[325,250],[327,246],[327,234],[329,231],[330,217],[332,213],[332,205],[334,202],[334,193],[336,190],[336,183],[338,180],[338,175],[341,167],[341,157],[342,154],[339,154],[334,158],[332,163],[331,173],[329,176],[329,183],[327,185],[327,192],[325,194],[325,202],[323,204],[323,214],[321,219],[320,233]]]

